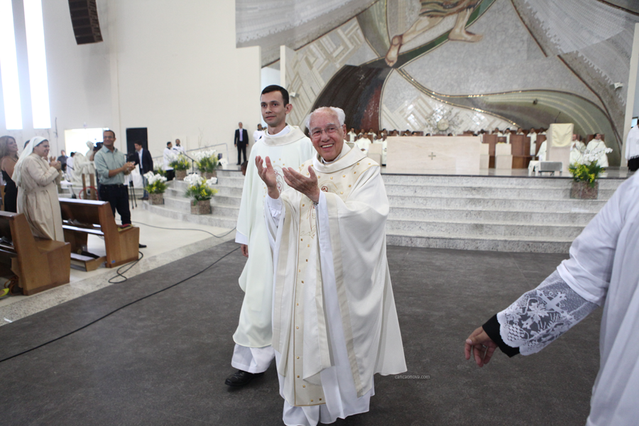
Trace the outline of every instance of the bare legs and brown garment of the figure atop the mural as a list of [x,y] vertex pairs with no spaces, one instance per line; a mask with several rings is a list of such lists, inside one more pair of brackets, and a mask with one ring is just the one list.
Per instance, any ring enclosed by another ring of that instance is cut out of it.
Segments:
[[457,15],[455,26],[448,35],[449,40],[474,43],[484,37],[481,34],[466,31],[466,22],[468,22],[475,7],[481,3],[481,0],[421,0],[420,3],[422,4],[422,9],[420,9],[420,17],[417,18],[417,21],[408,28],[408,31],[395,35],[393,40],[391,40],[391,48],[386,53],[386,63],[389,67],[392,67],[397,62],[402,45],[413,40],[417,35],[437,26],[446,16]]

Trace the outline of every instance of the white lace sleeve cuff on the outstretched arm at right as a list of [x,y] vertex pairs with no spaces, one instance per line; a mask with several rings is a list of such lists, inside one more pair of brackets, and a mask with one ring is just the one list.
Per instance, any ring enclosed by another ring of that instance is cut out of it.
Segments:
[[[596,307],[574,291],[555,271],[535,290],[524,293],[506,310],[497,314],[499,334],[506,345],[519,348],[520,354],[535,354],[583,320]],[[493,341],[498,343],[495,339]]]

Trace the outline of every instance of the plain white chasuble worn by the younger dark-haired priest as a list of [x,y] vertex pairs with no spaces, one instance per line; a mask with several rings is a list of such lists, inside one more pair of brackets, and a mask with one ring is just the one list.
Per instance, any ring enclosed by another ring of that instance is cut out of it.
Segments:
[[315,150],[310,139],[295,126],[290,126],[290,131],[282,136],[267,133],[251,149],[236,236],[237,242],[249,246],[249,258],[239,278],[240,288],[244,290],[244,301],[239,324],[233,335],[234,342],[241,346],[269,346],[272,335],[273,256],[264,222],[266,186],[258,176],[255,158],[257,155],[271,158],[278,174],[278,187],[284,190],[287,185],[282,168],[298,168],[305,160],[312,158],[313,153]]

